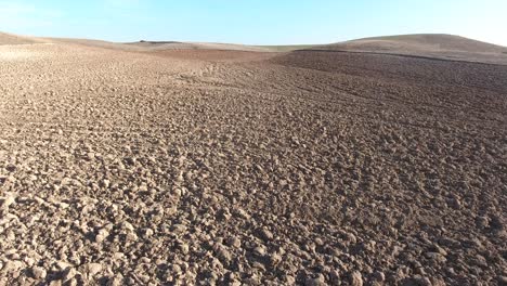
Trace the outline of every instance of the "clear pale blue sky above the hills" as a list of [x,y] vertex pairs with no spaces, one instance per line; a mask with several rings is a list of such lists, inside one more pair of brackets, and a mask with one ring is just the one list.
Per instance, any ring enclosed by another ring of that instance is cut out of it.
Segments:
[[0,0],[0,31],[245,44],[431,32],[507,47],[506,12],[507,0]]

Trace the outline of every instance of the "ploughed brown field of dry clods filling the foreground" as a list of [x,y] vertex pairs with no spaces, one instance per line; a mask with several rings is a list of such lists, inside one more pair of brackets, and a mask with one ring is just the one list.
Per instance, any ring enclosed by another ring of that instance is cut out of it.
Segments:
[[0,47],[1,285],[506,285],[507,66]]

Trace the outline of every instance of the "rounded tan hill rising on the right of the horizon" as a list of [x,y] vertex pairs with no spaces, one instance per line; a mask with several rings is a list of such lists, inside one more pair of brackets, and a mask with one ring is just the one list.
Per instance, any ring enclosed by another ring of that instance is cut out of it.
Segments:
[[507,48],[454,35],[420,34],[364,38],[318,47],[332,50],[372,52],[468,52],[503,53]]

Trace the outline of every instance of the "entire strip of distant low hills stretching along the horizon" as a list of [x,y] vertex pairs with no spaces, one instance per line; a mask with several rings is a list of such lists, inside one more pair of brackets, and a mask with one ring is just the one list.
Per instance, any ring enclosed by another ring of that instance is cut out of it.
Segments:
[[425,56],[441,60],[507,64],[507,48],[454,35],[419,34],[363,38],[330,44],[246,46],[214,42],[148,41],[120,43],[92,39],[35,38],[0,32],[2,44],[73,43],[134,52],[221,50],[248,52],[341,51]]

